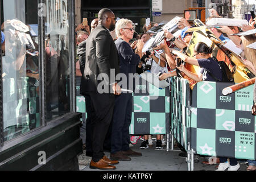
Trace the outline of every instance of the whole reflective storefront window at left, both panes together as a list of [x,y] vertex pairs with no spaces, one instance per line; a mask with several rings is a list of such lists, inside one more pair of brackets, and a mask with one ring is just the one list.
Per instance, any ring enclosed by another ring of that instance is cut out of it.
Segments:
[[74,28],[69,24],[73,3],[0,2],[1,36],[5,38],[1,44],[0,91],[6,142],[74,111],[75,93],[71,89],[75,72],[71,69],[74,36],[69,35]]

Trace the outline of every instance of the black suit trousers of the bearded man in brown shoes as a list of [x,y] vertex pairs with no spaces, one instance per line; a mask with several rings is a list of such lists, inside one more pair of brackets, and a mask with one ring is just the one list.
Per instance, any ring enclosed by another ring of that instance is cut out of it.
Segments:
[[[91,125],[92,126],[92,160],[98,162],[105,155],[103,150],[104,140],[112,122],[114,110],[114,94],[99,94],[86,92],[90,97]],[[86,134],[87,135],[87,134]]]

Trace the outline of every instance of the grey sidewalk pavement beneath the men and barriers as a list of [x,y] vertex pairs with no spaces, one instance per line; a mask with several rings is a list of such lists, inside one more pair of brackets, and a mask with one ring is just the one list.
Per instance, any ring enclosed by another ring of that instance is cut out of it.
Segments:
[[[185,158],[181,158],[179,153],[181,151],[166,151],[155,150],[155,142],[153,147],[147,149],[139,149],[141,146],[141,140],[137,144],[131,147],[132,150],[142,152],[141,157],[131,157],[131,161],[119,161],[119,164],[115,165],[117,169],[115,171],[187,171],[187,163]],[[174,148],[178,150],[179,148]],[[108,156],[110,153],[105,152]],[[101,171],[100,169],[90,169],[89,163],[91,158],[84,154],[79,156],[80,170],[81,171]],[[214,171],[216,165],[204,165],[202,162],[204,158],[200,157],[200,162],[195,163],[195,171]],[[245,171],[246,165],[240,164],[239,171]]]

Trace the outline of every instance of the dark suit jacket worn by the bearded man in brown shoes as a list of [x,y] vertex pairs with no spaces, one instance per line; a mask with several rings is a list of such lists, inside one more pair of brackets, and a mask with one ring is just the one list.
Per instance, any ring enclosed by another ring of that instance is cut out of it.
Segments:
[[[110,77],[110,69],[115,69],[115,75]],[[105,73],[109,80],[105,85],[115,82],[115,76],[119,73],[119,59],[114,40],[107,28],[98,24],[86,39],[85,68],[81,78],[80,93],[96,92],[101,80],[98,75]],[[112,80],[110,80],[112,78]]]

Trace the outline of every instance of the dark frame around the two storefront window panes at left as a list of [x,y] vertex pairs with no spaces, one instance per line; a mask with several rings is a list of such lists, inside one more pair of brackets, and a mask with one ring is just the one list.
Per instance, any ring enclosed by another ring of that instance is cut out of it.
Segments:
[[[26,0],[24,0],[26,1]],[[46,5],[47,0],[37,0],[38,1],[38,12],[39,9],[42,7],[39,7],[40,3],[43,3]],[[76,112],[76,100],[75,100],[75,0],[68,0],[68,24],[69,24],[69,99],[70,101],[70,107],[69,107],[69,112],[65,113],[63,115],[60,115],[59,117],[51,119],[51,121],[46,122],[46,47],[45,47],[45,40],[46,40],[46,35],[45,35],[45,30],[44,30],[44,23],[46,22],[46,16],[39,16],[38,15],[38,46],[39,46],[39,82],[40,82],[40,92],[39,92],[39,110],[40,110],[40,120],[42,123],[42,126],[36,127],[35,129],[32,129],[24,134],[18,135],[17,137],[3,141],[4,136],[3,136],[3,85],[2,85],[2,51],[0,51],[0,148],[5,146],[6,144],[9,144],[13,141],[18,141],[21,138],[26,140],[27,134],[30,134],[36,130],[42,130],[43,127],[46,127],[49,125],[49,123],[55,122],[59,120],[60,118],[65,118],[66,115],[72,114]],[[2,6],[2,5],[1,5]],[[46,11],[46,10],[45,10]],[[26,10],[25,10],[26,12]],[[0,19],[2,15],[2,11],[0,9]],[[46,14],[44,14],[46,15]],[[0,38],[0,46],[1,46],[1,38]],[[22,140],[21,139],[21,140]],[[23,140],[22,140],[23,141]]]

